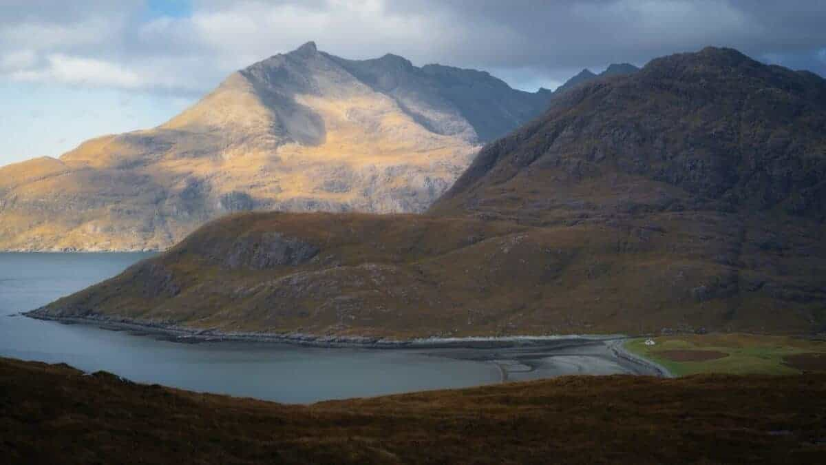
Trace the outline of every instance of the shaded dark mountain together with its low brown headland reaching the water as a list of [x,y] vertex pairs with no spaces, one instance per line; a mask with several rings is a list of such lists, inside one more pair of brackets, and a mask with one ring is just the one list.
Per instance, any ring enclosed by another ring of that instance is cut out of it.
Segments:
[[735,50],[578,85],[425,216],[207,225],[40,318],[417,337],[826,330],[826,81]]

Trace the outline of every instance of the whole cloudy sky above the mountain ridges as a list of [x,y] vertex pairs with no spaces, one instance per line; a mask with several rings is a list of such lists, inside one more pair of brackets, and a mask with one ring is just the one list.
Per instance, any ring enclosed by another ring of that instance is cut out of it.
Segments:
[[824,0],[0,0],[0,165],[157,126],[306,41],[535,91],[704,46],[826,76],[824,24]]

